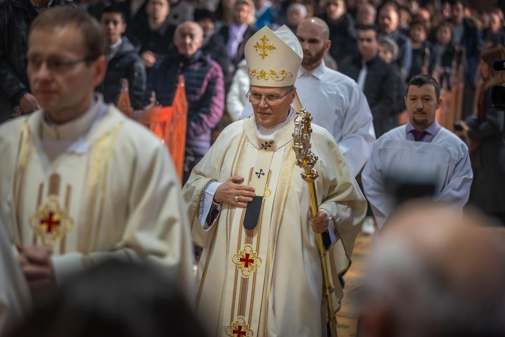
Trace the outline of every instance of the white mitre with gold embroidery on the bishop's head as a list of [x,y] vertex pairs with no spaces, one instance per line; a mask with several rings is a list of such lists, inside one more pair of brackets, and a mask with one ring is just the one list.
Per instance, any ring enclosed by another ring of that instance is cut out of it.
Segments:
[[260,29],[245,44],[245,62],[251,85],[288,87],[294,84],[304,52],[285,25],[271,31]]

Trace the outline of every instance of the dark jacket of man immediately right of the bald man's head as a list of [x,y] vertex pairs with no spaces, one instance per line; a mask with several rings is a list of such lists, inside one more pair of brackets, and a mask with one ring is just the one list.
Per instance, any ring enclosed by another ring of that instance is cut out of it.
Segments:
[[329,20],[326,14],[321,15],[321,19],[328,24],[330,29],[330,55],[339,67],[344,59],[359,54],[356,23],[349,13],[342,15],[336,22]]

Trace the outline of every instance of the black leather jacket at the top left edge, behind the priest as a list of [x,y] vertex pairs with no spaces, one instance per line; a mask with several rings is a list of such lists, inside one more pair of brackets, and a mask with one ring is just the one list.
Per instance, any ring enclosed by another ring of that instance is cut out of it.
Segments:
[[[54,0],[52,7],[68,5]],[[38,13],[29,0],[0,0],[0,123],[30,91],[26,75],[28,31]]]

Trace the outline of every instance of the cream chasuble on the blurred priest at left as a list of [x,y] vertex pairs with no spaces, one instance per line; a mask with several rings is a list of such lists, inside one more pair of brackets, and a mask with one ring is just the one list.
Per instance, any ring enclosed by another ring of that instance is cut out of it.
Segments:
[[3,124],[0,157],[0,207],[11,241],[52,249],[57,282],[105,258],[147,260],[194,295],[177,174],[142,125],[97,96],[63,125],[40,110]]

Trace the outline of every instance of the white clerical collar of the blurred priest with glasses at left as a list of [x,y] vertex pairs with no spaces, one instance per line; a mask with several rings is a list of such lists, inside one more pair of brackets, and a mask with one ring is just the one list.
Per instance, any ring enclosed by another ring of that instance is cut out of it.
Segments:
[[40,119],[40,138],[42,140],[74,140],[85,137],[94,122],[102,116],[104,98],[96,93],[87,111],[80,117],[64,124],[55,124],[46,111],[42,111]]

